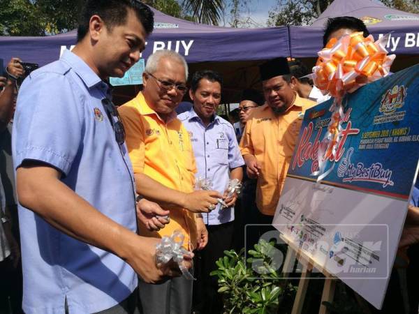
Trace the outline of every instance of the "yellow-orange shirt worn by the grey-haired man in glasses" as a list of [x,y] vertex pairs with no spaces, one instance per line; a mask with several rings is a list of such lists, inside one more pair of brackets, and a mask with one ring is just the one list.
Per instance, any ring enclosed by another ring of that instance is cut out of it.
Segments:
[[[176,117],[165,123],[147,105],[142,93],[118,109],[126,133],[126,146],[134,173],[144,173],[163,186],[185,193],[193,192],[196,164],[189,134]],[[159,232],[150,232],[144,225],[139,234],[145,237],[171,236],[175,230],[185,234],[196,248],[194,214],[183,208],[170,209],[170,223]],[[186,248],[191,248],[185,246]]]

